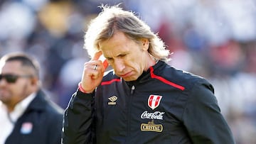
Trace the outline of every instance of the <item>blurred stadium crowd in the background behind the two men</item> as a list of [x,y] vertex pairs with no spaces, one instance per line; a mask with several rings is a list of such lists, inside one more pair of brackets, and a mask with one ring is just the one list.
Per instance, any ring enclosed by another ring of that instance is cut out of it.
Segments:
[[1,0],[0,56],[23,51],[65,108],[80,82],[87,23],[100,4],[137,13],[171,50],[170,64],[206,77],[238,144],[256,143],[256,0]]

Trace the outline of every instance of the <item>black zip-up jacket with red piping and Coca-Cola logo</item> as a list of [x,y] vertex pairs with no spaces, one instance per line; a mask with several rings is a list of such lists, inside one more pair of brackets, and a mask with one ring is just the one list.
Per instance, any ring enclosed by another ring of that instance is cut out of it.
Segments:
[[65,110],[63,143],[235,143],[212,85],[159,61],[134,82],[113,72]]

